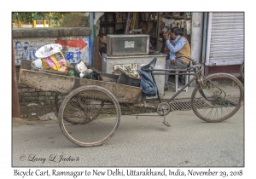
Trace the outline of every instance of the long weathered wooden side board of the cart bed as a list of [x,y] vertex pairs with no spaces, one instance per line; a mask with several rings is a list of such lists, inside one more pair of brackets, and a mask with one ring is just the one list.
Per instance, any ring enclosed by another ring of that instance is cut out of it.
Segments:
[[85,78],[70,78],[66,75],[57,75],[26,69],[20,69],[19,83],[25,84],[30,88],[44,91],[58,91],[64,95],[84,85],[102,86],[113,93],[119,103],[136,104],[144,98],[141,88],[138,87]]

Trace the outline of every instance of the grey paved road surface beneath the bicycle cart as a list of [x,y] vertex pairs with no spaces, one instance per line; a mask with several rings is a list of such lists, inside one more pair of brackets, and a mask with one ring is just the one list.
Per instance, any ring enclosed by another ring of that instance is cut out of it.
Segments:
[[244,165],[243,107],[216,124],[202,121],[193,111],[172,112],[166,119],[172,127],[162,124],[160,116],[123,115],[117,132],[102,147],[77,147],[57,123],[14,124],[12,166]]

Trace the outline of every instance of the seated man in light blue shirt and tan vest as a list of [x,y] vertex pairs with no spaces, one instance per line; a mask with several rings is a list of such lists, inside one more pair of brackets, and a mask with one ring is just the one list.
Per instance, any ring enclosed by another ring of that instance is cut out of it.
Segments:
[[[168,34],[165,36],[166,45],[170,50],[170,58],[166,60],[166,69],[177,69],[185,68],[189,65],[189,59],[182,57],[176,59],[176,56],[186,55],[190,57],[190,45],[187,38],[180,36],[181,31],[179,28],[172,28],[171,35]],[[173,40],[173,44],[170,42],[170,39]],[[169,75],[166,75],[165,78],[165,90],[168,90],[168,78]]]

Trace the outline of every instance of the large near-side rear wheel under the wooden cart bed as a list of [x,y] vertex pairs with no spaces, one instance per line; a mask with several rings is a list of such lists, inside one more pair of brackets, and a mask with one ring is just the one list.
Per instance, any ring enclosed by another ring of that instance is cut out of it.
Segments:
[[71,91],[59,109],[62,133],[81,147],[100,146],[108,141],[118,128],[120,117],[115,96],[95,85]]

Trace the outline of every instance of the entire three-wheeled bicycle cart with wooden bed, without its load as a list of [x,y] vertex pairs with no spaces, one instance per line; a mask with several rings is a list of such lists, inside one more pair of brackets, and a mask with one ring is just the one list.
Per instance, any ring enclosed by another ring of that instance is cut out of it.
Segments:
[[[164,116],[172,111],[170,101],[184,88],[196,82],[191,96],[191,107],[195,114],[207,122],[220,122],[234,115],[241,107],[243,87],[240,81],[230,74],[217,73],[209,77],[201,74],[201,65],[193,61],[193,66],[184,73],[194,75],[188,84],[168,101],[162,101],[155,111]],[[141,70],[154,75],[177,74],[170,69],[154,69],[156,58]],[[119,126],[120,106],[136,105],[145,99],[141,88],[85,78],[70,78],[59,72],[36,72],[30,70],[31,61],[22,61],[19,83],[30,88],[55,91],[55,106],[59,125],[69,141],[81,147],[100,146],[108,141]],[[57,73],[57,74],[56,74]],[[154,81],[155,82],[155,81]],[[57,94],[66,95],[59,106]]]

